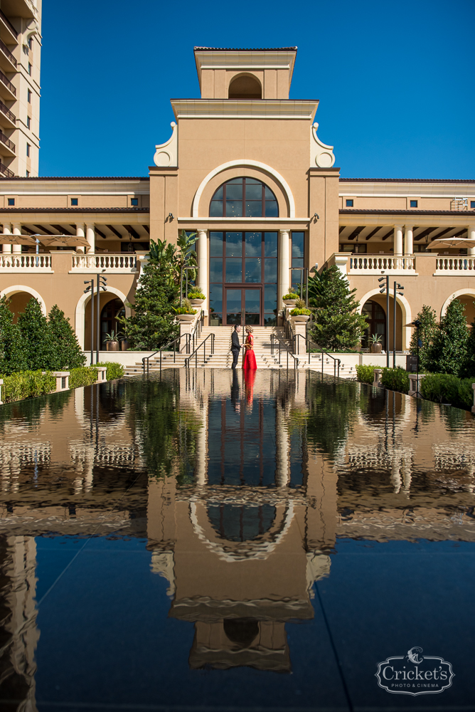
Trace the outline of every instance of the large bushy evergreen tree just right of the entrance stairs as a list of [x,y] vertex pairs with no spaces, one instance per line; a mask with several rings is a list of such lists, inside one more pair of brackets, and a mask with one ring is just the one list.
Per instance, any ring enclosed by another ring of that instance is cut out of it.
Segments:
[[311,331],[311,337],[321,348],[351,349],[361,342],[368,323],[357,311],[355,292],[336,265],[321,273],[313,295],[316,324]]

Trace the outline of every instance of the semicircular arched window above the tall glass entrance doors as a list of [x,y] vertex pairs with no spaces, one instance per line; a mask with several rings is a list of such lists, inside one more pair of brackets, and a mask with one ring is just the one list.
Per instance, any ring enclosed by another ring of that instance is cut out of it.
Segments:
[[210,202],[210,217],[279,217],[277,198],[255,178],[235,178],[223,183]]

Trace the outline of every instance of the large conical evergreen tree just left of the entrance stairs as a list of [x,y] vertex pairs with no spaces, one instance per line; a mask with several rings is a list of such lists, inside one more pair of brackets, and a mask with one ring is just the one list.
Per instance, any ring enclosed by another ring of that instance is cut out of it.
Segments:
[[178,305],[179,284],[176,248],[165,240],[151,241],[135,303],[130,305],[134,315],[121,320],[130,347],[155,350],[178,336],[174,307]]

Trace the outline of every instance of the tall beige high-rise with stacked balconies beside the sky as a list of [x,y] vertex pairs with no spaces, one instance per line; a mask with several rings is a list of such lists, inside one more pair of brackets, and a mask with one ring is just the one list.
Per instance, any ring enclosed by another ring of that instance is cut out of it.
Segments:
[[41,0],[0,0],[0,175],[38,176]]

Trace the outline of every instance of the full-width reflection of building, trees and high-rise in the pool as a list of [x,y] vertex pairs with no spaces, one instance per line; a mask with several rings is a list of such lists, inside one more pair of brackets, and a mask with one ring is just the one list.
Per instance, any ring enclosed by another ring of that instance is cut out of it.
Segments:
[[36,709],[35,537],[146,538],[169,616],[194,625],[191,669],[282,673],[338,537],[475,540],[469,414],[250,376],[176,370],[0,410],[0,689],[18,709]]

